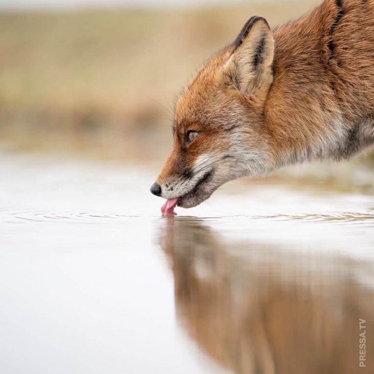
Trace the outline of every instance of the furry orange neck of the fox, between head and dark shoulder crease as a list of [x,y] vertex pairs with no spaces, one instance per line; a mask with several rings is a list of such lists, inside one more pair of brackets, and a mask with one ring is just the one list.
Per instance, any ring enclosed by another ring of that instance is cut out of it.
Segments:
[[334,2],[274,31],[274,81],[264,107],[274,168],[349,158],[374,142],[372,117],[344,96],[337,76],[344,65],[338,66],[321,36],[336,16],[329,4]]

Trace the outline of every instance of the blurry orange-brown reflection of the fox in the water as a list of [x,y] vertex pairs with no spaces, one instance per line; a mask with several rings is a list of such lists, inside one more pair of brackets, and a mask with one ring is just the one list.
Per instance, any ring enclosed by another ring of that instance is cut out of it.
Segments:
[[355,374],[360,318],[374,339],[374,295],[347,258],[225,241],[192,218],[165,219],[160,241],[174,275],[180,324],[202,351],[238,373]]

